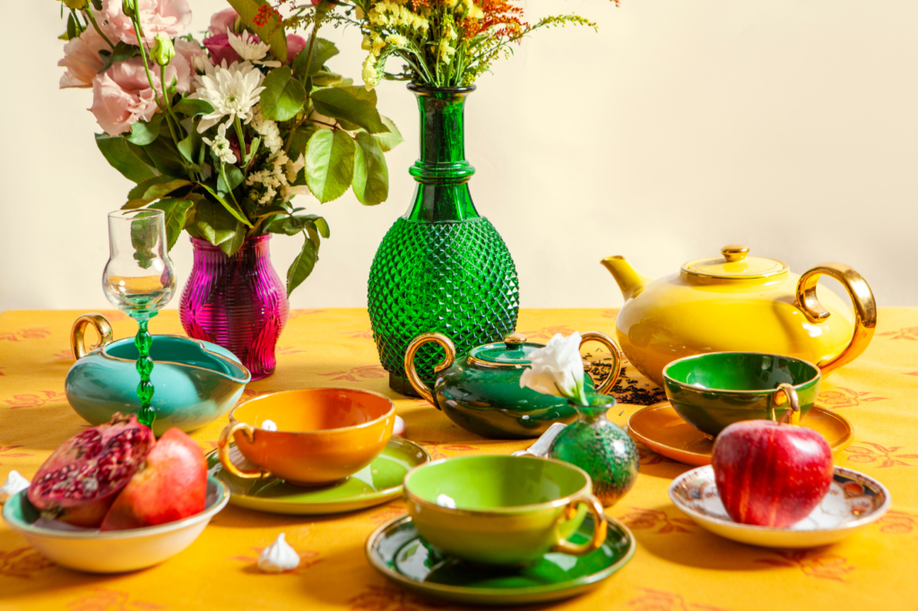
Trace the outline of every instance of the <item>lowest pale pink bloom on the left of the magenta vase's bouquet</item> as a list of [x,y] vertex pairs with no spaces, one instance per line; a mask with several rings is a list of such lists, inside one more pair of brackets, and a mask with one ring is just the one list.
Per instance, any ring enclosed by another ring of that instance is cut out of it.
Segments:
[[[186,92],[191,86],[191,69],[185,58],[178,55],[176,58],[165,69],[166,86],[175,79],[178,91]],[[159,68],[152,70],[156,92],[147,81],[140,57],[119,61],[106,72],[95,75],[93,106],[89,110],[107,134],[118,136],[130,131],[130,126],[138,121],[149,121],[156,114],[159,109],[156,95],[161,91],[161,85]]]

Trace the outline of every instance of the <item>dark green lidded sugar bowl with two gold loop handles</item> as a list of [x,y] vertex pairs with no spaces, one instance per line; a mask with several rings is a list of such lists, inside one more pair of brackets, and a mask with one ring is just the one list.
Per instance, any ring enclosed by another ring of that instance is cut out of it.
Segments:
[[[584,333],[581,346],[599,341],[612,357],[610,376],[598,387],[586,381],[588,393],[606,394],[615,385],[621,371],[621,353],[608,335]],[[424,344],[433,342],[446,352],[436,366],[433,388],[429,388],[415,369],[415,354]],[[478,346],[456,359],[453,341],[441,333],[425,333],[414,339],[405,353],[405,371],[414,390],[465,430],[487,439],[533,439],[555,422],[568,423],[577,418],[577,410],[567,400],[521,388],[522,372],[532,366],[532,350],[543,344],[527,341],[514,333],[503,341]],[[589,370],[589,364],[584,363]]]

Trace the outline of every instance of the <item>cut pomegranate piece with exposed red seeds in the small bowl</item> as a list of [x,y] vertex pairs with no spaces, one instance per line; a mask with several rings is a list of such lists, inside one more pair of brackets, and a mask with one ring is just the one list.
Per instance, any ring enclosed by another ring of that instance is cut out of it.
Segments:
[[155,441],[136,416],[115,414],[54,450],[32,479],[28,500],[42,517],[98,527]]

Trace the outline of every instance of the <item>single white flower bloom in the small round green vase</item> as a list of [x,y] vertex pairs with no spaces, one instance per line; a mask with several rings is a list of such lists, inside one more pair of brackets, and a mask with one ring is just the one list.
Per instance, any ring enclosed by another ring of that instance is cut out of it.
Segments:
[[520,387],[563,396],[586,405],[580,341],[580,333],[577,331],[566,338],[555,333],[544,348],[532,350],[532,368],[522,372]]

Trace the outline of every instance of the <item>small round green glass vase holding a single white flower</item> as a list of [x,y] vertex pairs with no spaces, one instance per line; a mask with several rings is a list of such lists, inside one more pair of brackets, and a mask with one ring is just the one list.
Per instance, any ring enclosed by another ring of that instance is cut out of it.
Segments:
[[554,439],[552,458],[588,472],[593,479],[593,494],[603,506],[610,507],[637,481],[640,459],[628,433],[606,417],[615,399],[588,393],[587,400],[589,405],[569,402],[577,409],[578,418]]

